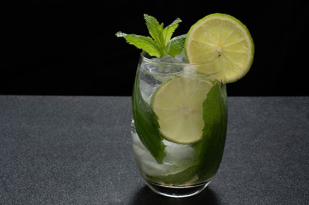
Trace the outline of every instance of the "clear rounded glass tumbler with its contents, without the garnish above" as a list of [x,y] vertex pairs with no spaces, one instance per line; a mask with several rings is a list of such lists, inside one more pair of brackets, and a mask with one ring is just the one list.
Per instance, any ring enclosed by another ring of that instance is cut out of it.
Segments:
[[159,62],[141,53],[131,135],[138,170],[155,193],[193,196],[216,175],[228,120],[220,67],[220,57],[186,64]]

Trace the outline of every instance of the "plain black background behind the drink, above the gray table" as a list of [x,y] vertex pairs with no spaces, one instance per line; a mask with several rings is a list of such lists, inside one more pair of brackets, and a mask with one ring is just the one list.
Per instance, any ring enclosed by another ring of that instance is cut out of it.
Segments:
[[146,13],[164,26],[179,17],[180,35],[220,12],[255,43],[253,65],[227,85],[229,96],[309,95],[309,3],[244,2],[1,0],[0,94],[129,96],[140,50],[117,31],[148,35]]

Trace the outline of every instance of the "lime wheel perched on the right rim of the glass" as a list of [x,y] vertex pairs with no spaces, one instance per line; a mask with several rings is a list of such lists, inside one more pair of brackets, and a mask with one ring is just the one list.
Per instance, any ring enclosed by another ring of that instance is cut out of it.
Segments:
[[[215,13],[197,21],[188,31],[185,53],[190,63],[217,59],[223,65],[226,83],[242,78],[250,69],[254,43],[247,27],[236,18]],[[199,70],[203,72],[203,70]]]

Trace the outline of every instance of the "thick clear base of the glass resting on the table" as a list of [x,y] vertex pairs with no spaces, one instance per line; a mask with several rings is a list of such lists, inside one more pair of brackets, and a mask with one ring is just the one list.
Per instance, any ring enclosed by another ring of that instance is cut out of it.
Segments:
[[[210,180],[211,181],[211,180]],[[145,179],[146,184],[157,194],[167,196],[167,197],[174,197],[174,198],[183,198],[183,197],[190,197],[196,195],[203,191],[210,181],[206,183],[193,185],[193,186],[166,186],[161,184],[156,184],[151,181]]]

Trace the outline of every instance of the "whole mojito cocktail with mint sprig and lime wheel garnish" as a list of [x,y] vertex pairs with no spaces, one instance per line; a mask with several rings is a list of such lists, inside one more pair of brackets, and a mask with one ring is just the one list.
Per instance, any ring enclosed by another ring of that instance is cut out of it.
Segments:
[[251,67],[247,28],[226,14],[211,14],[187,34],[171,38],[180,19],[163,29],[145,14],[152,38],[118,32],[143,49],[132,93],[134,157],[156,193],[188,197],[216,175],[228,126],[226,83]]

